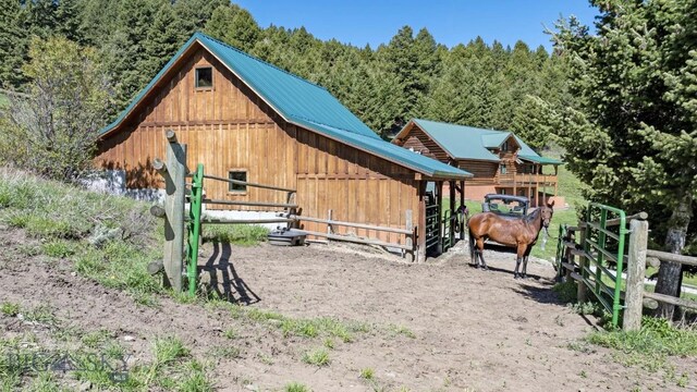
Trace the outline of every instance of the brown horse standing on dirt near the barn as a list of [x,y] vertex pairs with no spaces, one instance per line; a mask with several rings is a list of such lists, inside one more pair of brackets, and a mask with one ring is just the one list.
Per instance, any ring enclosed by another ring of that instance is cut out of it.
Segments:
[[[493,212],[480,212],[467,221],[469,229],[469,255],[476,268],[479,268],[477,256],[481,260],[481,267],[489,269],[484,260],[484,242],[491,238],[501,245],[515,247],[515,279],[527,277],[527,258],[533,245],[537,241],[542,228],[547,229],[554,210],[554,201],[539,207],[535,211],[522,218],[504,218]],[[476,247],[475,247],[476,243]],[[523,261],[523,273],[518,274],[518,268]]]

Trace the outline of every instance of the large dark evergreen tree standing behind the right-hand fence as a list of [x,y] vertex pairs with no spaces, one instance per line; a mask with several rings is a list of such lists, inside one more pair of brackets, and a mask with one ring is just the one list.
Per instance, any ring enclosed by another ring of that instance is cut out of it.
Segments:
[[[697,197],[695,71],[697,0],[594,1],[598,36],[560,24],[557,50],[572,58],[579,111],[567,115],[570,168],[594,199],[650,210],[665,249],[687,241]],[[657,220],[670,211],[667,220]],[[677,295],[680,265],[662,262],[656,291]],[[659,313],[671,317],[673,307]]]

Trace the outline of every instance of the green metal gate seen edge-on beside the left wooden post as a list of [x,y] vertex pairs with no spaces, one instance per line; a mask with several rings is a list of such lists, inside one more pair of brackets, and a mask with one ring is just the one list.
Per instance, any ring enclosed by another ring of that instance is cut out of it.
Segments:
[[188,246],[186,278],[188,294],[196,295],[196,275],[198,269],[198,242],[200,236],[200,210],[204,194],[204,164],[198,163],[192,181],[191,207],[188,210]]

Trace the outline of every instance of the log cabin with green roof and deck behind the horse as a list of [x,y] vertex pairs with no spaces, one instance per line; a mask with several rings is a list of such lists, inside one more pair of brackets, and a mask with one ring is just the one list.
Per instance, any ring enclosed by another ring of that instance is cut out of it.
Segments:
[[392,143],[427,151],[443,163],[473,173],[466,181],[467,199],[481,201],[486,194],[498,193],[528,197],[530,206],[549,198],[555,199],[555,206],[564,205],[557,180],[563,162],[541,157],[512,132],[414,119]]

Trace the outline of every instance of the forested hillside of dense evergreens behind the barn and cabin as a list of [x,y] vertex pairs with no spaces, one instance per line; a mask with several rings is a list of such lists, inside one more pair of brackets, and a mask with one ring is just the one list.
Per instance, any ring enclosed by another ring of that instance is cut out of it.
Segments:
[[545,48],[475,38],[453,48],[405,26],[378,48],[322,41],[305,28],[261,28],[224,0],[0,0],[0,84],[22,89],[33,36],[94,47],[115,105],[105,122],[155,76],[196,30],[231,44],[337,96],[387,136],[409,118],[515,130],[546,144],[538,118],[570,103],[564,64]]

